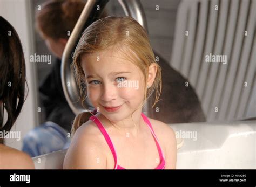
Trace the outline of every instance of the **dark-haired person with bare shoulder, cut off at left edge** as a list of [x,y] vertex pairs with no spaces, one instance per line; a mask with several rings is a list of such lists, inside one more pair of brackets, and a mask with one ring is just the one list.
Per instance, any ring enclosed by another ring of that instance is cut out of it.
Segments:
[[[14,27],[0,16],[0,131],[11,130],[25,101],[25,59],[21,40]],[[4,112],[8,115],[4,123]],[[0,137],[0,169],[34,169],[29,157],[22,151],[3,144]]]

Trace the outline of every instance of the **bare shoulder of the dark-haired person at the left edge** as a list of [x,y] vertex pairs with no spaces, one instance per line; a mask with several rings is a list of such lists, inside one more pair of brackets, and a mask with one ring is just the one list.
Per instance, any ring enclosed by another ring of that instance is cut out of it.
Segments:
[[0,169],[35,169],[29,155],[0,144]]

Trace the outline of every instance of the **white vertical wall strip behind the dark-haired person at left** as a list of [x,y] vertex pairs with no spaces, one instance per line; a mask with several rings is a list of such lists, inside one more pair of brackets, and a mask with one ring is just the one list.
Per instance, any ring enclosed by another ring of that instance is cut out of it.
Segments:
[[21,131],[21,140],[5,139],[5,144],[21,149],[24,135],[38,124],[37,82],[35,64],[30,63],[29,56],[34,53],[34,36],[32,32],[31,1],[0,0],[0,15],[14,26],[21,38],[26,61],[26,80],[29,94],[12,130]]

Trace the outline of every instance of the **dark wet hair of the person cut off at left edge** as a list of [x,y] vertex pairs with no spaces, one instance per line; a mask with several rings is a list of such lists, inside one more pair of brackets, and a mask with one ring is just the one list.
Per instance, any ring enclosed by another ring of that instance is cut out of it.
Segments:
[[[25,100],[25,76],[21,40],[14,27],[0,16],[0,131],[10,131],[21,112]],[[5,110],[8,119],[3,124]]]

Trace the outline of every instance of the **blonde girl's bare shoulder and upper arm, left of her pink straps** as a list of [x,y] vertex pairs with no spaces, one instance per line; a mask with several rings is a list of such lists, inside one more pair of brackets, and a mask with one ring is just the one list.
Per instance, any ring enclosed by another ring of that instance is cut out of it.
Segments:
[[66,153],[63,169],[106,169],[106,156],[93,134],[78,128]]

